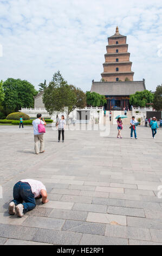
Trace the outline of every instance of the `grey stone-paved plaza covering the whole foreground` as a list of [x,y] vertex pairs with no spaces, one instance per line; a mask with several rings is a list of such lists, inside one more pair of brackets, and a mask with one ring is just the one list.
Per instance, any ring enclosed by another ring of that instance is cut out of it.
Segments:
[[[4,245],[161,245],[162,129],[152,139],[138,127],[138,140],[116,125],[99,131],[57,132],[47,127],[46,153],[35,155],[33,129],[0,126],[0,244]],[[20,179],[42,181],[49,203],[24,217],[8,215],[12,187]]]

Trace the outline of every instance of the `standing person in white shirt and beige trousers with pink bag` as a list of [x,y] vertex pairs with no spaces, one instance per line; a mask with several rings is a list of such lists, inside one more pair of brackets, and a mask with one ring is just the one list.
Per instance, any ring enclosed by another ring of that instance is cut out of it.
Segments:
[[34,142],[35,142],[35,154],[39,154],[38,142],[40,141],[40,153],[44,153],[44,133],[38,132],[38,124],[46,125],[44,118],[42,118],[42,114],[37,114],[37,119],[33,120],[33,130],[34,130]]

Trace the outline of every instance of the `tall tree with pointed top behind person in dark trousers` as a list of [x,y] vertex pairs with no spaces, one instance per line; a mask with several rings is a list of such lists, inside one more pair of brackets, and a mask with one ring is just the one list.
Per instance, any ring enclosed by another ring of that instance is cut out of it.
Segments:
[[44,89],[43,103],[50,114],[54,111],[63,112],[64,107],[68,107],[70,113],[76,107],[75,92],[64,80],[60,71],[54,74],[53,80]]

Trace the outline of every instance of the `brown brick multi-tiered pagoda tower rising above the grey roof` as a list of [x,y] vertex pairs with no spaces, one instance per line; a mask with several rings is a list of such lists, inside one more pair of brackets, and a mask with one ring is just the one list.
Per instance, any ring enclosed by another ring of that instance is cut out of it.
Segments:
[[103,73],[101,74],[105,82],[133,81],[134,72],[131,71],[132,62],[129,61],[127,37],[119,33],[116,27],[116,33],[108,38],[105,54],[105,63],[103,63]]

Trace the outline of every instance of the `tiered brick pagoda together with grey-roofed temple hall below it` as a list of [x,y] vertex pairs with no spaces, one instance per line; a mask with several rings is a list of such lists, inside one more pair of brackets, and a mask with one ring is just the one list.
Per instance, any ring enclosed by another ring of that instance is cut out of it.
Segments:
[[101,82],[92,81],[90,92],[106,96],[107,110],[129,107],[129,96],[146,89],[144,79],[133,81],[134,72],[131,69],[132,62],[129,60],[126,39],[127,37],[121,35],[119,28],[116,27],[115,34],[108,38]]

